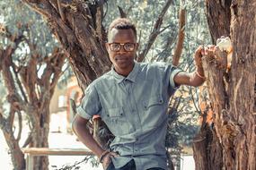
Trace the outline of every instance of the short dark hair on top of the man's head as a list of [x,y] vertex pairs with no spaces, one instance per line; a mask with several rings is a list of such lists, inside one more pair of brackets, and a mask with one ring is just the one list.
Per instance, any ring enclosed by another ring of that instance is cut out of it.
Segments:
[[137,30],[132,21],[130,21],[128,18],[117,18],[114,21],[110,23],[109,32],[108,32],[108,38],[110,37],[110,32],[113,29],[117,30],[133,30],[135,38],[137,39]]

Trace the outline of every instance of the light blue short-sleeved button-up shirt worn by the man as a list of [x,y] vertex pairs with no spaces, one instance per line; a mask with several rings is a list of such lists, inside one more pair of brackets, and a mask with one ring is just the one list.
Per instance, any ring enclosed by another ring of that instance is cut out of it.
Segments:
[[173,77],[178,72],[172,64],[135,63],[128,77],[112,68],[85,90],[77,113],[85,119],[101,115],[115,135],[110,149],[120,155],[112,158],[116,168],[133,158],[138,170],[167,169],[166,111],[177,89]]

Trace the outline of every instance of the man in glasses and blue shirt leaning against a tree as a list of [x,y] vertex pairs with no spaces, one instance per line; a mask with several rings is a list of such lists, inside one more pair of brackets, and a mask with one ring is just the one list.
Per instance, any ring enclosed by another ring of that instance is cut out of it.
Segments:
[[[199,86],[204,81],[202,47],[195,53],[196,72],[187,73],[172,64],[139,64],[137,31],[128,19],[116,19],[106,43],[111,71],[85,90],[73,123],[78,138],[99,157],[108,170],[163,170],[169,98],[182,84]],[[110,150],[93,140],[85,124],[101,115],[115,135]]]

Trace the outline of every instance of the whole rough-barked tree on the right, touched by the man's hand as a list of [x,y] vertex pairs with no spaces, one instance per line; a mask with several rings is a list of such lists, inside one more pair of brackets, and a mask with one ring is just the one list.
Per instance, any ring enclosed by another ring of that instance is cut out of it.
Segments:
[[212,41],[230,36],[233,55],[230,70],[226,53],[204,58],[214,129],[201,129],[202,140],[194,146],[197,169],[256,169],[255,5],[206,1]]

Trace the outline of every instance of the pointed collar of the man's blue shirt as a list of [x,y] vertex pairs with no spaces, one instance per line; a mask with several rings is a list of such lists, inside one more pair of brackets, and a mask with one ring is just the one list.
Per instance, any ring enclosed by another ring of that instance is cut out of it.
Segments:
[[124,77],[124,76],[120,75],[118,72],[116,72],[114,69],[114,66],[112,65],[111,74],[113,75],[114,78],[116,78],[118,80],[118,83],[120,83],[121,81],[124,81],[124,80],[135,82],[138,69],[139,69],[139,64],[135,61],[132,71],[129,72],[127,77]]

